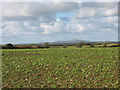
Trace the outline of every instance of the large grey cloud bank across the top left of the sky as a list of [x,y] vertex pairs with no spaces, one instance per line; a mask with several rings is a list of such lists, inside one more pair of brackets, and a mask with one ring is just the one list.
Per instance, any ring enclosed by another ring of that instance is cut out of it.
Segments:
[[4,3],[3,20],[40,20],[50,22],[55,20],[56,13],[74,11],[79,8],[78,3],[73,2],[32,2],[32,3]]

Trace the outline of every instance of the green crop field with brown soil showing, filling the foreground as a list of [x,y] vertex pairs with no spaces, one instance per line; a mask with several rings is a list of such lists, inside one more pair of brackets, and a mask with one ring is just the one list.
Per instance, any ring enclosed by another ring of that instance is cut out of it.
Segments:
[[118,88],[118,47],[6,49],[3,88]]

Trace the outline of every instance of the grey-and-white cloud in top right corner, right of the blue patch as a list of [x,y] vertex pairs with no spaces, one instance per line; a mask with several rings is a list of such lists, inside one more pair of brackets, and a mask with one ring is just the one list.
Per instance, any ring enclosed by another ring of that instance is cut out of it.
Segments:
[[89,19],[97,17],[118,16],[116,2],[83,2],[76,10],[76,19]]

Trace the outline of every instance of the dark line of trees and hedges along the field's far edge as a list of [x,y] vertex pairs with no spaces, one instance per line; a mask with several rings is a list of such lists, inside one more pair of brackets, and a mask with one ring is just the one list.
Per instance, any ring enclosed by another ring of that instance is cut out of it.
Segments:
[[76,44],[58,44],[58,45],[51,45],[48,42],[43,43],[42,45],[36,45],[36,44],[29,44],[29,45],[13,45],[11,43],[8,43],[6,45],[1,46],[2,49],[32,49],[32,48],[50,48],[50,47],[63,47],[67,48],[68,46],[76,46],[77,48],[81,48],[83,46],[89,46],[89,47],[96,47],[96,45],[101,45],[100,47],[118,47],[118,45],[111,45],[108,46],[109,43],[85,43],[85,42],[79,42]]

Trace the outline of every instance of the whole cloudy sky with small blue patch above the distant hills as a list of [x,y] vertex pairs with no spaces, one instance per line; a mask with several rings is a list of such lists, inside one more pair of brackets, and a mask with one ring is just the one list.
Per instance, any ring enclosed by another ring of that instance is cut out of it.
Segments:
[[117,2],[2,2],[2,43],[117,41]]

